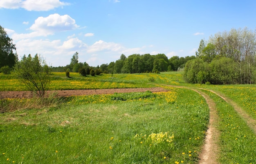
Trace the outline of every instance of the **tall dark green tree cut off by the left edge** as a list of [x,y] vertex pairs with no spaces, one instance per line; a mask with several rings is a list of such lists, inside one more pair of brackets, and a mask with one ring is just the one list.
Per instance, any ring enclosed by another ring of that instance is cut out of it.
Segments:
[[15,65],[18,55],[13,53],[13,50],[16,50],[15,44],[12,43],[12,39],[4,31],[4,28],[0,26],[0,68],[3,66],[12,68]]

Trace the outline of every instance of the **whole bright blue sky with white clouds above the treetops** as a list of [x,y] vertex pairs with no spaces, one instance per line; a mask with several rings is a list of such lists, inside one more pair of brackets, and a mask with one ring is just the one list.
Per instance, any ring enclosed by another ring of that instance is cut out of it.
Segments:
[[121,54],[186,57],[200,40],[231,28],[256,29],[255,0],[1,0],[0,25],[21,56],[51,66],[72,55],[90,66]]

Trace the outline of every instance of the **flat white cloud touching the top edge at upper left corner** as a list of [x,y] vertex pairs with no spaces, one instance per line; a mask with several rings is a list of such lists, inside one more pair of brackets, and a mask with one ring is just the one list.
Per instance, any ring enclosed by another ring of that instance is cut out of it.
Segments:
[[0,8],[19,9],[23,8],[28,11],[49,11],[56,7],[70,5],[67,2],[59,0],[1,0]]

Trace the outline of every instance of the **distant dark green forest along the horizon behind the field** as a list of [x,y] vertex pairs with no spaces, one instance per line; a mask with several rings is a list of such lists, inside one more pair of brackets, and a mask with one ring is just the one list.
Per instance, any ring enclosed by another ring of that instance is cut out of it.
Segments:
[[79,72],[81,74],[90,74],[91,70],[101,73],[159,73],[165,71],[177,71],[184,68],[187,61],[195,59],[195,56],[178,57],[173,56],[170,59],[164,54],[133,54],[126,57],[124,54],[117,61],[101,66],[91,67],[88,63],[78,62],[78,52],[76,52],[70,64],[67,66],[52,67],[53,72]]

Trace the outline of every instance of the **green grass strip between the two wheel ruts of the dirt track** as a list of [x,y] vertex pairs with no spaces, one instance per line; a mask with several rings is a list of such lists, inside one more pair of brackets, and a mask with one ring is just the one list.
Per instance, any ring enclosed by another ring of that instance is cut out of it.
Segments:
[[[203,92],[207,92],[202,90]],[[207,92],[216,102],[218,116],[218,130],[220,131],[220,157],[222,164],[254,164],[256,163],[256,136],[247,126],[234,108],[222,98]]]

